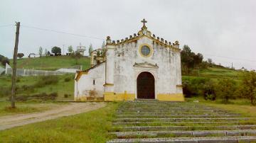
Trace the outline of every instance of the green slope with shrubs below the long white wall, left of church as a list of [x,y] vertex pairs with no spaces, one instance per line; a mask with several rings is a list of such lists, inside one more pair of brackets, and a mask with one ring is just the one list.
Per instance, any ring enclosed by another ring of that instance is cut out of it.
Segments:
[[[74,74],[60,76],[18,76],[17,96],[34,96],[41,93],[57,93],[56,101],[73,101]],[[69,80],[71,79],[71,80]],[[0,101],[11,94],[11,76],[0,76]],[[65,87],[65,88],[64,88]],[[68,96],[65,96],[68,95]]]

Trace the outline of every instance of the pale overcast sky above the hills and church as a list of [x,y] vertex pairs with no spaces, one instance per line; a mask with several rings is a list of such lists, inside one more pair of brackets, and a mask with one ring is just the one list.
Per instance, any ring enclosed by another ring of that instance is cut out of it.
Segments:
[[27,57],[40,46],[50,50],[64,45],[67,50],[81,42],[96,49],[107,35],[120,40],[137,33],[146,18],[148,30],[164,40],[178,40],[216,64],[256,69],[255,16],[253,0],[0,0],[0,54],[12,57],[15,21],[21,22],[18,52]]

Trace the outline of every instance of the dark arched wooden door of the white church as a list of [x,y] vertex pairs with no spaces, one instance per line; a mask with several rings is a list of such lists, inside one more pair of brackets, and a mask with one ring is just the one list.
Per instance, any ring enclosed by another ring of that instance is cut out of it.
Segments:
[[154,76],[142,72],[137,77],[137,98],[154,99]]

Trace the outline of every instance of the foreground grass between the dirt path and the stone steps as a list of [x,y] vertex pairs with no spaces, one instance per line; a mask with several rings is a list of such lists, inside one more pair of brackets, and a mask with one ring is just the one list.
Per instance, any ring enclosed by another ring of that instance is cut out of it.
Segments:
[[0,142],[106,142],[118,105],[0,131]]

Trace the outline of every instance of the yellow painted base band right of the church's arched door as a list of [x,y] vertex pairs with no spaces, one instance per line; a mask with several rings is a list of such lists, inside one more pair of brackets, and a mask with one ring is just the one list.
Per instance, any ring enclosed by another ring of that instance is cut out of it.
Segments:
[[157,94],[159,101],[185,101],[183,93]]

